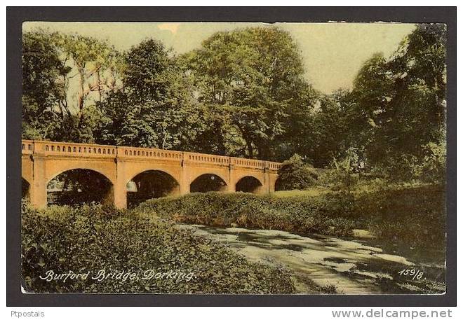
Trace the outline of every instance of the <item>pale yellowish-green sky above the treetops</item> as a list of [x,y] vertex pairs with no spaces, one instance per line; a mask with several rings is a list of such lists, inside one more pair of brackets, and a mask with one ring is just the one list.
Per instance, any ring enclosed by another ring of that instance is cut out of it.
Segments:
[[[178,53],[200,48],[219,31],[264,26],[260,22],[24,22],[23,32],[35,28],[79,33],[106,40],[118,50],[128,50],[154,38]],[[301,50],[305,76],[315,89],[330,93],[351,88],[363,62],[374,53],[389,56],[415,25],[405,23],[276,23],[290,32]]]

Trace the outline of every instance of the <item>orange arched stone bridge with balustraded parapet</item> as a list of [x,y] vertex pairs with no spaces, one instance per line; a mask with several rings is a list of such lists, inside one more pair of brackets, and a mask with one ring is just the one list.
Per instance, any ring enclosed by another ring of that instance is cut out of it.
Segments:
[[[130,183],[140,190],[156,188],[152,181],[156,176],[149,172],[159,174],[161,181],[169,179],[170,190],[163,195],[208,190],[271,193],[279,166],[277,162],[155,148],[22,140],[22,179],[36,208],[47,205],[48,182],[74,169],[104,176],[109,181],[105,200],[122,209],[127,207]],[[215,188],[208,188],[208,183],[215,183]]]

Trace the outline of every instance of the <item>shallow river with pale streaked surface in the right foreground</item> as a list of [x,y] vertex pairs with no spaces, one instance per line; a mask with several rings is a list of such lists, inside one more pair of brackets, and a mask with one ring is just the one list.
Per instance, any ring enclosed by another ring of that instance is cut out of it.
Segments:
[[297,293],[438,294],[445,291],[445,266],[415,263],[384,252],[370,245],[373,241],[368,237],[303,237],[280,230],[178,226],[222,242],[248,260],[285,267],[293,274]]

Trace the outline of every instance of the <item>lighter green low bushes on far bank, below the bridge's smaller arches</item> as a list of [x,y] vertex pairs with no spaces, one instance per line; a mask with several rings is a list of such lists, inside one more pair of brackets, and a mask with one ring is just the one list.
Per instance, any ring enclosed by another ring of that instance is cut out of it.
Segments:
[[271,197],[249,193],[192,193],[183,197],[149,200],[138,210],[154,212],[175,222],[239,225],[246,228],[300,233],[351,235],[356,221],[353,198]]

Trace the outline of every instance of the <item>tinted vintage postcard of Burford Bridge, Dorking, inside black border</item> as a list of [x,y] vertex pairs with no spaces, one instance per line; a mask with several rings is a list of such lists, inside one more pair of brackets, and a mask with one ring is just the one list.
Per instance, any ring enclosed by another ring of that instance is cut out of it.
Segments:
[[22,23],[22,292],[445,293],[446,34]]

